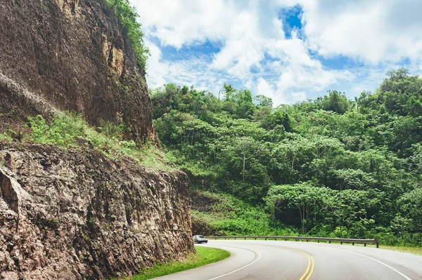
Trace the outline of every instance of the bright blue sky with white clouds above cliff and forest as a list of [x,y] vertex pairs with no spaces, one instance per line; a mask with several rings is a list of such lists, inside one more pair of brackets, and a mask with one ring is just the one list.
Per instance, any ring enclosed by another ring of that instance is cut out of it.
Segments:
[[385,72],[422,73],[421,0],[129,0],[148,86],[224,83],[274,104],[374,91]]

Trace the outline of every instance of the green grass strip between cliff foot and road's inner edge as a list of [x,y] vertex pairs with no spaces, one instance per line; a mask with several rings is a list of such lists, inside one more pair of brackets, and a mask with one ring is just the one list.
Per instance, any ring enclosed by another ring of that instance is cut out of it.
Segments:
[[166,264],[155,265],[155,267],[144,269],[140,274],[137,274],[132,278],[127,278],[127,280],[152,279],[159,276],[181,272],[187,269],[200,267],[212,262],[218,262],[219,260],[229,258],[229,256],[229,252],[221,249],[197,246],[196,253],[189,255],[188,258],[186,258],[186,260],[183,262],[173,261]]

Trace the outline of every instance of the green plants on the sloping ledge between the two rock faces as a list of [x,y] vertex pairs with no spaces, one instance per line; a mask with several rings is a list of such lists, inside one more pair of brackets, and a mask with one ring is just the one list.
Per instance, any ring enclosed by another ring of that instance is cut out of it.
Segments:
[[[164,152],[151,143],[138,147],[132,140],[122,140],[123,124],[102,121],[101,127],[89,127],[79,114],[58,113],[50,122],[41,115],[28,117],[31,140],[63,148],[94,147],[111,158],[129,156],[149,168],[172,171],[174,165]],[[98,132],[99,131],[99,132]]]

